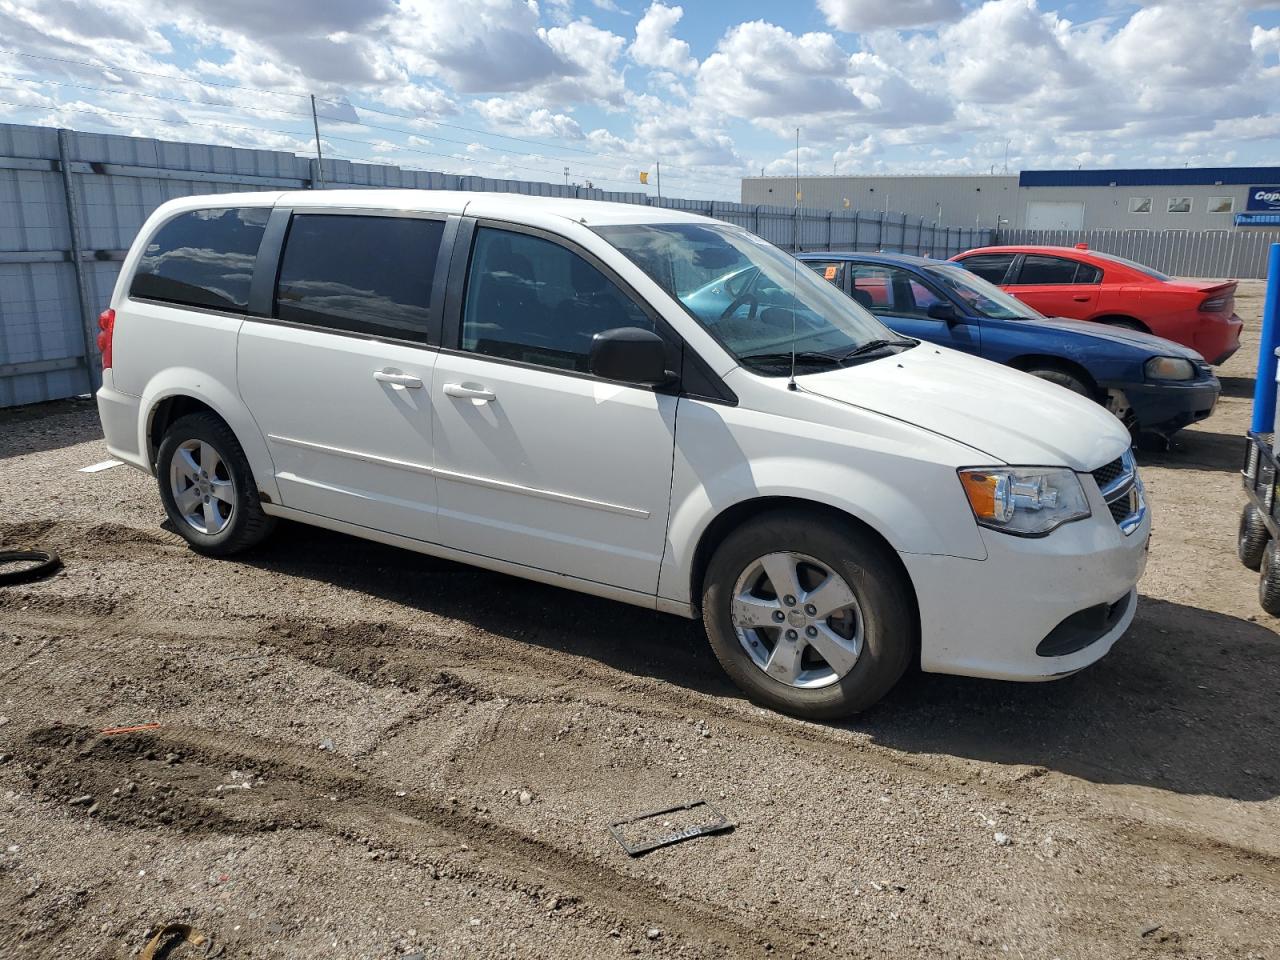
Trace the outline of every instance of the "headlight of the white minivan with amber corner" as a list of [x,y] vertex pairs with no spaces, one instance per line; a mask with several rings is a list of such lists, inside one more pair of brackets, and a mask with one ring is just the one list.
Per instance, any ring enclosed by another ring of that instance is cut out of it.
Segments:
[[978,524],[1018,536],[1043,536],[1091,515],[1080,479],[1050,467],[974,467],[960,483]]

